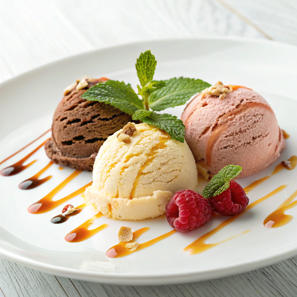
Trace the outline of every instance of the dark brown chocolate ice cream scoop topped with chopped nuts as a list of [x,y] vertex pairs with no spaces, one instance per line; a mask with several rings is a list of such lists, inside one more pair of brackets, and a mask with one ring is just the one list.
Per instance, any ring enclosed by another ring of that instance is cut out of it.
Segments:
[[53,162],[93,170],[103,142],[132,120],[117,108],[81,98],[89,87],[106,80],[86,80],[88,86],[83,89],[79,89],[79,84],[74,86],[59,103],[53,116],[52,137],[45,143],[45,152]]

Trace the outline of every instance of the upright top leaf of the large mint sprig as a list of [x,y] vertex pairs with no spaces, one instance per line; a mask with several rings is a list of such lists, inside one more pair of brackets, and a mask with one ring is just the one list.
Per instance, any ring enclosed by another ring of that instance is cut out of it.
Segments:
[[145,86],[149,81],[153,80],[157,61],[150,50],[141,53],[136,60],[136,71],[141,86]]

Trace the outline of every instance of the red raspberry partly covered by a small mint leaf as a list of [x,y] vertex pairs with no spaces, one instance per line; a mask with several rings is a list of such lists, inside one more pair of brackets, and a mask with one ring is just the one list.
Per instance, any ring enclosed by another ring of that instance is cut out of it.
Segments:
[[208,198],[214,210],[223,216],[240,214],[249,204],[249,198],[244,189],[236,181],[230,181],[230,187],[221,194]]

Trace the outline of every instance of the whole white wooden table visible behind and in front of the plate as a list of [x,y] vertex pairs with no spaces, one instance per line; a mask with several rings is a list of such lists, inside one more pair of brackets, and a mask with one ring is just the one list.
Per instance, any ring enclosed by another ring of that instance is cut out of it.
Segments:
[[[240,36],[297,44],[296,0],[0,0],[0,82],[42,64],[140,40]],[[297,296],[297,257],[249,273],[170,286],[115,286],[0,258],[0,297]]]

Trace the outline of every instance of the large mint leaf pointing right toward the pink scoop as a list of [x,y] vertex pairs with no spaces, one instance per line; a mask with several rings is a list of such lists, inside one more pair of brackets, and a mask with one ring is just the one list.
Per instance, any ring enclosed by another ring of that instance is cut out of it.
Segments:
[[164,81],[166,85],[153,91],[149,97],[149,107],[152,110],[163,110],[168,107],[183,105],[193,95],[211,86],[203,80],[195,78],[170,78]]

